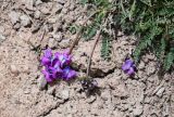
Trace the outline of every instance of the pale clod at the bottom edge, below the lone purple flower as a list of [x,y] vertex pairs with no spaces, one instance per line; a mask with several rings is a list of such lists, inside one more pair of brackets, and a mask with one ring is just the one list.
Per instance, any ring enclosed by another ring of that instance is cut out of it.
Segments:
[[134,117],[139,117],[142,114],[142,105],[141,104],[136,104],[136,108],[133,109],[133,115]]

